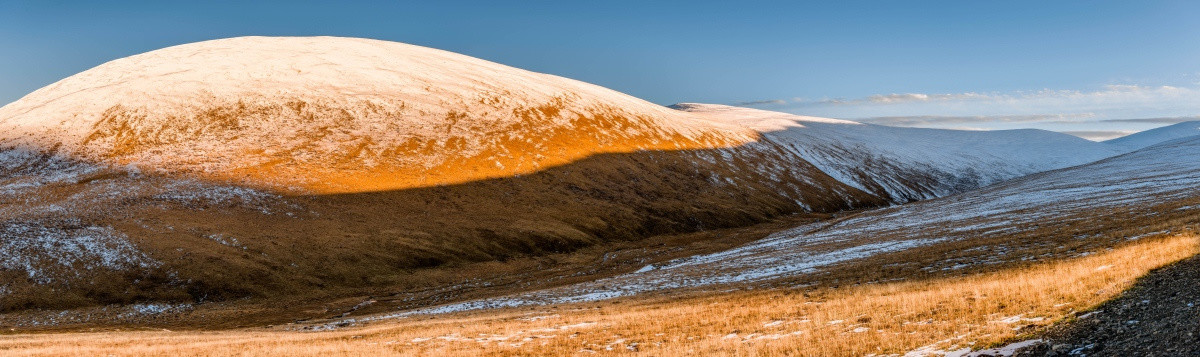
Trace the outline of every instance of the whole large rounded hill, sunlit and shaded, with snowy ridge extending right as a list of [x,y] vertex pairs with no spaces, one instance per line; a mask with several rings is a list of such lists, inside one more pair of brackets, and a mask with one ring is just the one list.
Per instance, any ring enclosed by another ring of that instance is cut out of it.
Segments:
[[1098,155],[794,117],[804,134],[785,135],[796,129],[728,113],[779,115],[674,110],[356,38],[115,60],[0,108],[0,310],[454,286],[510,261],[877,207]]

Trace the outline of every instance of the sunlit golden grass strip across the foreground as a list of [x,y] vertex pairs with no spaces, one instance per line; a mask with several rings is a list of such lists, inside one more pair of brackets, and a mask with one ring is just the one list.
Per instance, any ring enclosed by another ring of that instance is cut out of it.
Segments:
[[[733,355],[862,356],[983,347],[1087,310],[1200,240],[1145,240],[1068,261],[842,289],[738,291],[414,317],[334,332],[106,332],[0,337],[41,355]],[[610,350],[611,349],[611,350]]]

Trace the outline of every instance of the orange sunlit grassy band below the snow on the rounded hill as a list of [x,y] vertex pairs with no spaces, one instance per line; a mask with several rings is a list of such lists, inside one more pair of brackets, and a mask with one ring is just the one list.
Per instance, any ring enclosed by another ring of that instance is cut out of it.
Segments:
[[[385,103],[395,109],[238,102],[182,116],[119,104],[101,115],[83,144],[102,153],[90,159],[119,165],[142,163],[283,193],[340,194],[504,179],[595,155],[727,149],[758,139],[748,129],[716,127],[688,135],[664,125],[690,119],[686,114],[659,117],[604,104],[584,109],[566,95],[538,104],[491,103],[498,107],[438,114],[403,102]],[[187,144],[210,140],[223,145],[202,149],[209,151],[203,158],[192,156],[197,149]]]

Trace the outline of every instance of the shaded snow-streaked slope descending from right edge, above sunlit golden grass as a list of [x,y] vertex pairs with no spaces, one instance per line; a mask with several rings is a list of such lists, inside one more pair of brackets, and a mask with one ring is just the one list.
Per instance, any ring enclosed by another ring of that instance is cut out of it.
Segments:
[[[1004,240],[1009,236],[1027,235],[1036,243],[1058,246],[1063,240],[1079,242],[1117,230],[1144,231],[1150,226],[1144,220],[1187,224],[1171,216],[1200,210],[1200,205],[1189,204],[1196,201],[1200,201],[1200,137],[984,189],[798,226],[731,250],[647,266],[613,278],[400,315],[586,302],[706,286],[721,290],[728,284],[796,278],[878,254],[1000,238],[1002,246],[980,247],[983,252],[992,252],[984,254],[984,260],[946,261],[949,268],[961,268],[1003,258],[1008,253],[1003,244],[1016,244]],[[1088,234],[1081,228],[1099,232]],[[1045,232],[1064,237],[1042,242]],[[1033,256],[1020,259],[1030,258]]]

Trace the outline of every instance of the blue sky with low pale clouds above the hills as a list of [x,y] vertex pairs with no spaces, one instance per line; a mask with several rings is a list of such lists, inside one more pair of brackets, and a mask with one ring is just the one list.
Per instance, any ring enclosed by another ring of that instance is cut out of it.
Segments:
[[0,1],[0,103],[167,46],[331,35],[660,104],[1090,138],[1200,115],[1200,1],[647,2]]

